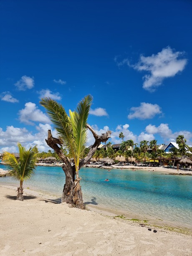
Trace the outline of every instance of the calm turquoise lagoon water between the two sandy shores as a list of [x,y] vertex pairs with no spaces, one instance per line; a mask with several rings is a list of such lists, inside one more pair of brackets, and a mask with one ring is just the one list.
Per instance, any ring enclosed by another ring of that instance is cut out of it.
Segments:
[[[0,168],[6,169],[6,166]],[[192,228],[192,176],[82,168],[80,177],[83,200],[90,205],[147,215]],[[104,181],[106,178],[109,182]],[[2,177],[0,182],[18,185],[12,177]],[[64,182],[61,167],[38,166],[33,178],[25,182],[25,187],[61,197]]]

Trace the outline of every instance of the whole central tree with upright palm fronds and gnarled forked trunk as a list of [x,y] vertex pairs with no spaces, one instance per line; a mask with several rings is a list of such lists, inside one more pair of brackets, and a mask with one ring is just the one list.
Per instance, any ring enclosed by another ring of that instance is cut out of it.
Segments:
[[[65,172],[66,179],[63,188],[62,202],[72,204],[81,209],[84,209],[85,205],[83,204],[79,170],[90,161],[101,142],[106,142],[111,134],[111,131],[107,131],[105,134],[98,135],[93,128],[87,124],[91,103],[92,96],[85,96],[79,102],[74,112],[69,110],[68,116],[63,106],[58,104],[57,101],[50,98],[43,98],[40,101],[40,104],[45,107],[59,136],[58,138],[53,138],[51,130],[48,130],[48,139],[45,141],[55,150],[57,155],[64,162],[62,169]],[[87,129],[93,134],[95,142],[91,146],[88,155],[80,160],[80,156],[86,148]],[[64,145],[66,147],[69,154],[73,156],[75,165],[70,163],[58,145]]]

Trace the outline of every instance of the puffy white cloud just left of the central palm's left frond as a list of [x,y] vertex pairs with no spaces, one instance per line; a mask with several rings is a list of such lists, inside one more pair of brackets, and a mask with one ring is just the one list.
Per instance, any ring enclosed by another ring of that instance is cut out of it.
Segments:
[[34,125],[34,122],[51,123],[48,117],[32,102],[27,102],[25,108],[19,111],[19,120],[29,125]]

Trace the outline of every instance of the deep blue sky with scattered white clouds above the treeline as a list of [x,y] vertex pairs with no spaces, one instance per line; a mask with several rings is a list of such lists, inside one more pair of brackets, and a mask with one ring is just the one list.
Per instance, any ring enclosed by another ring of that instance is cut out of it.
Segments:
[[47,151],[40,98],[68,112],[87,94],[88,123],[113,144],[192,145],[191,13],[190,0],[1,0],[0,151]]

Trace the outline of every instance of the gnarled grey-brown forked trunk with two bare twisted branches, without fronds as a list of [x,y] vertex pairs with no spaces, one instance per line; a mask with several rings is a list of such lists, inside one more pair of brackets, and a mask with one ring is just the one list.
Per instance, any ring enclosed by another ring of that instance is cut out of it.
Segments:
[[[79,169],[90,161],[91,157],[94,155],[96,149],[99,147],[101,142],[106,142],[110,138],[111,134],[111,131],[108,131],[105,134],[98,135],[89,124],[87,124],[87,128],[92,132],[93,137],[95,138],[95,143],[89,150],[88,155],[79,163]],[[47,142],[49,147],[55,150],[57,155],[64,162],[62,165],[62,169],[65,172],[66,181],[63,188],[62,202],[69,203],[80,209],[85,209],[80,186],[80,178],[76,177],[75,166],[71,165],[71,162],[69,162],[68,158],[63,154],[61,148],[58,146],[62,146],[63,142],[61,141],[61,139],[53,138],[51,130],[48,130],[48,138],[45,139],[45,141]]]

